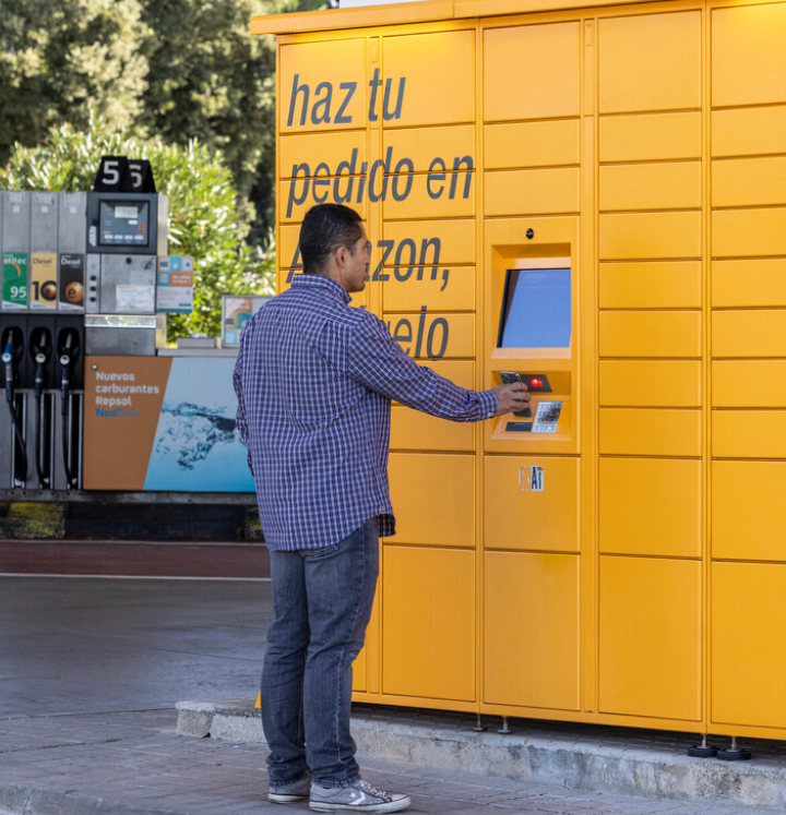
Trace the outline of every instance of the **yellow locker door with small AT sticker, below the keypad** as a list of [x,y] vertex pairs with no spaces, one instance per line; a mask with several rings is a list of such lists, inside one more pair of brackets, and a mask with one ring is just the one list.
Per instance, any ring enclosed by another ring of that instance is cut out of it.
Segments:
[[[543,490],[532,489],[532,468]],[[486,456],[484,547],[579,551],[579,459]]]

